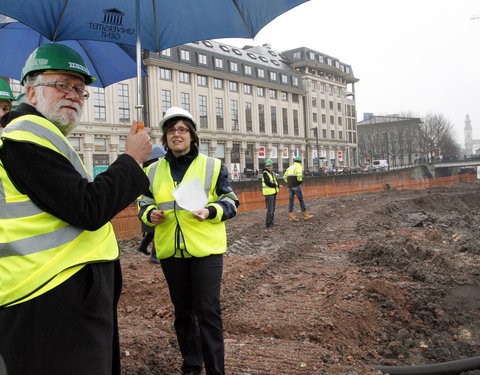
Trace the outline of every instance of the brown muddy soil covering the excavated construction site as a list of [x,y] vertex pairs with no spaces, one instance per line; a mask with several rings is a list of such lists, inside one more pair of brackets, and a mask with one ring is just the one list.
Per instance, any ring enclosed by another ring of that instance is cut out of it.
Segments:
[[[270,233],[265,210],[239,214],[224,258],[227,373],[369,375],[479,355],[479,196],[475,182],[317,199],[308,222],[277,207]],[[138,243],[121,243],[123,374],[179,374],[165,280]]]

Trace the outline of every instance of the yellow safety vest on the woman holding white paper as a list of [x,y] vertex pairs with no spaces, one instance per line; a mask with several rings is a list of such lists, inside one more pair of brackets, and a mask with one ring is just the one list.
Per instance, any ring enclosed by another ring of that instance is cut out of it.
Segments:
[[[208,202],[221,199],[235,207],[236,196],[233,192],[222,197],[215,192],[220,168],[219,159],[199,154],[188,167],[182,183],[199,178]],[[170,173],[170,164],[164,158],[148,166],[145,172],[150,179],[150,191],[154,199],[140,197],[139,205],[149,206],[141,219],[147,225],[152,225],[146,219],[151,210],[159,209],[165,213],[165,220],[155,226],[154,242],[157,258],[205,257],[211,254],[223,254],[227,250],[227,233],[225,222],[221,221],[222,206],[208,203],[207,206],[215,206],[217,215],[213,219],[200,222],[175,201],[172,195],[175,182]]]

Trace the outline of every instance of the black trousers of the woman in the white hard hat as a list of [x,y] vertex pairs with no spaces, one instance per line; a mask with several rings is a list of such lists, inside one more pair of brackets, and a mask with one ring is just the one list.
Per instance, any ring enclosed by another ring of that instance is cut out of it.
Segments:
[[223,255],[161,260],[175,308],[175,331],[183,371],[224,375],[220,288]]

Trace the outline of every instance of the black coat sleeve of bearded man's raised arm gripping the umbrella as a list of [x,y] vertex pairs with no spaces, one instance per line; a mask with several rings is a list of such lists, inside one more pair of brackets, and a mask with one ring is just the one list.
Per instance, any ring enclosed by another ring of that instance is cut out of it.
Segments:
[[86,230],[96,230],[148,189],[142,168],[123,154],[89,182],[50,149],[5,140],[0,158],[13,183],[41,209]]

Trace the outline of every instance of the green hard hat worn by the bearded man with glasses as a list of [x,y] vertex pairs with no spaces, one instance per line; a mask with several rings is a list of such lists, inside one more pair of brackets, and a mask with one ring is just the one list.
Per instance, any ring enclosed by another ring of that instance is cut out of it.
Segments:
[[87,64],[77,51],[63,44],[47,43],[33,51],[25,62],[22,69],[22,85],[28,74],[47,70],[80,75],[85,78],[86,85],[97,80],[90,75]]

